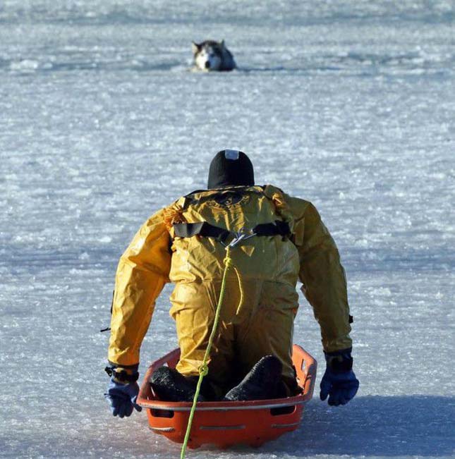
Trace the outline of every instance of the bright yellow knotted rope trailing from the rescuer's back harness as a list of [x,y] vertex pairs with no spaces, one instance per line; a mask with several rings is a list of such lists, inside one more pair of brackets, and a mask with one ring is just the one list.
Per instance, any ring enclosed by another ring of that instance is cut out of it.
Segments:
[[[194,398],[193,398],[193,405],[191,407],[190,417],[188,418],[188,426],[186,427],[185,439],[183,440],[183,445],[182,445],[181,454],[180,454],[181,459],[185,459],[186,447],[188,446],[188,440],[190,439],[191,425],[193,424],[193,417],[194,417],[194,413],[196,410],[196,404],[198,403],[198,397],[200,393],[200,386],[202,385],[202,379],[204,379],[204,377],[209,372],[209,368],[207,366],[207,360],[209,359],[210,350],[212,349],[214,336],[218,328],[219,313],[221,312],[221,309],[222,309],[222,304],[224,300],[224,292],[226,291],[227,272],[229,271],[229,268],[231,268],[232,266],[233,265],[232,265],[232,259],[231,259],[231,247],[227,247],[226,258],[224,258],[224,273],[223,273],[222,287],[219,292],[219,299],[218,299],[218,304],[217,304],[217,310],[215,311],[212,332],[210,333],[209,342],[207,343],[207,349],[205,350],[205,355],[204,355],[204,359],[202,360],[202,365],[199,368],[199,379],[198,379],[198,384],[196,386],[196,391],[195,391]],[[241,286],[240,274],[238,274],[236,267],[233,267],[233,268],[236,270],[236,274],[238,278],[238,285],[240,286],[240,291],[241,291],[241,300],[237,308],[237,311],[239,311],[241,308],[242,302],[243,302],[243,288]]]

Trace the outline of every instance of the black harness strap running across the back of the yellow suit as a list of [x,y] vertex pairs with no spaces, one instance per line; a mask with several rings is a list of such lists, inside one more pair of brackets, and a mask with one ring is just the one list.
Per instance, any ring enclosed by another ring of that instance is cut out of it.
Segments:
[[[218,240],[226,240],[229,236],[236,237],[237,233],[214,226],[207,221],[200,221],[199,223],[179,223],[174,224],[174,234],[178,238],[191,238],[195,235],[200,235],[205,238],[215,238]],[[262,223],[256,225],[250,230],[251,234],[257,236],[289,236],[291,230],[286,221],[275,220],[273,223]]]

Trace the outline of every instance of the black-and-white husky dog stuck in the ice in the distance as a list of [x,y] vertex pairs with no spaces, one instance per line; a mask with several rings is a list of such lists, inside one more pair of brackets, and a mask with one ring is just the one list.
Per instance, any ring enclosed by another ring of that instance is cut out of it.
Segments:
[[231,51],[226,48],[224,40],[207,40],[199,44],[193,42],[192,48],[196,70],[222,72],[236,68]]

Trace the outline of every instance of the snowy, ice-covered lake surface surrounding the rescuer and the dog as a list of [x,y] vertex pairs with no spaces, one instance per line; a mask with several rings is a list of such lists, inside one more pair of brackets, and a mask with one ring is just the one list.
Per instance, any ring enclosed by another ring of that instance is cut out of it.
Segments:
[[[238,71],[187,71],[192,40],[223,38]],[[453,1],[2,1],[0,457],[178,457],[144,412],[111,416],[99,329],[135,231],[226,147],[332,231],[360,391],[188,458],[455,457],[454,119]],[[141,374],[176,347],[170,291]],[[319,384],[303,298],[295,341]]]

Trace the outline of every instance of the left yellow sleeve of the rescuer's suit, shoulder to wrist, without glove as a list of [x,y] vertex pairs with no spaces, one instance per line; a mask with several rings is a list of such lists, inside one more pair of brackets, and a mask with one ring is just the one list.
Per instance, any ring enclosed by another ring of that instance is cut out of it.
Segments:
[[108,358],[127,372],[128,367],[137,369],[155,300],[169,282],[169,242],[161,210],[142,225],[117,267]]

